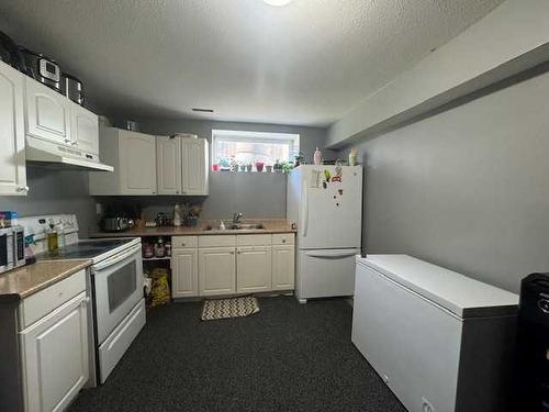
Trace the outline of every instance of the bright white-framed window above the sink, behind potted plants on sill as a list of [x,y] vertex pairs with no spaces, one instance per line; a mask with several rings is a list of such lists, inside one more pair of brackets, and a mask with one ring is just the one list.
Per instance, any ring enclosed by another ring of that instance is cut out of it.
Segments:
[[228,167],[232,163],[274,165],[291,162],[300,152],[300,135],[290,133],[212,131],[212,162]]

